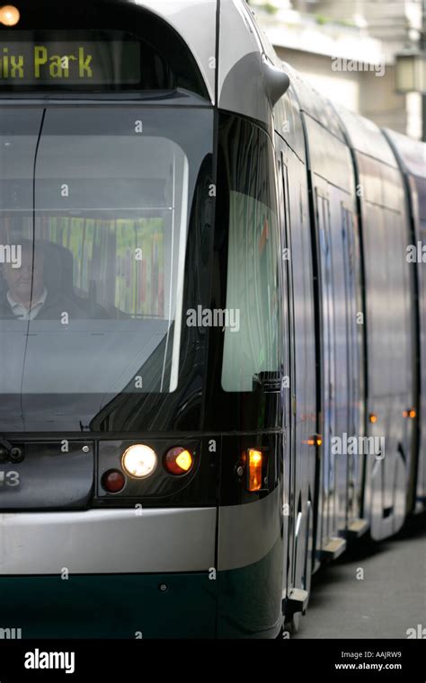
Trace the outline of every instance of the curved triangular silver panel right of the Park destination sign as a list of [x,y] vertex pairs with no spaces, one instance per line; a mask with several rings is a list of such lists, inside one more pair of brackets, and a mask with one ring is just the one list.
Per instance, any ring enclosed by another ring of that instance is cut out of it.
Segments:
[[216,55],[217,0],[135,0],[135,4],[162,16],[182,36],[215,102],[216,72],[211,60]]

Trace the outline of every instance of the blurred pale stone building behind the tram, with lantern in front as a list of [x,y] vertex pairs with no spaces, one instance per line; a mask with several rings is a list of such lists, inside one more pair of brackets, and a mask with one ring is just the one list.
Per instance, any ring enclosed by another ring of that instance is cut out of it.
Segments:
[[426,139],[426,0],[248,0],[280,58],[377,122]]

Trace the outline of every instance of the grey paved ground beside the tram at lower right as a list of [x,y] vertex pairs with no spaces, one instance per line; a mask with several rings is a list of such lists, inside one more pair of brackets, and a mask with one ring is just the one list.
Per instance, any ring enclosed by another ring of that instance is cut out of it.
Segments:
[[[357,575],[364,578],[357,579]],[[298,638],[406,638],[426,627],[426,516],[321,569]]]

